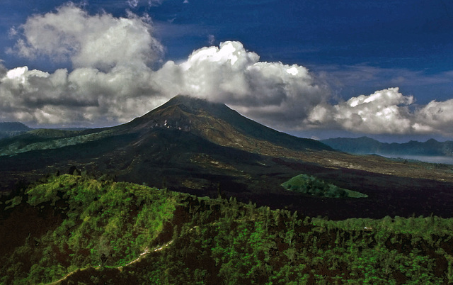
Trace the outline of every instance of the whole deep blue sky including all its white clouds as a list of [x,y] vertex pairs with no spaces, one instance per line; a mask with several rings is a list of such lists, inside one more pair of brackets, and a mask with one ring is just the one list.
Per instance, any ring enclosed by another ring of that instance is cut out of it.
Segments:
[[453,140],[453,2],[0,1],[0,121],[117,125],[178,94],[302,137]]

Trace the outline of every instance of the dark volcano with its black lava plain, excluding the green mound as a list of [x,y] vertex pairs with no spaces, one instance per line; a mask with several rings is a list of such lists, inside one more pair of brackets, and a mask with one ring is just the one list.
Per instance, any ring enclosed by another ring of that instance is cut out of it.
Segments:
[[[3,191],[71,166],[71,171],[76,167],[200,196],[236,196],[311,216],[453,213],[453,171],[447,166],[348,155],[260,125],[224,104],[190,96],[176,96],[112,128],[31,130],[0,140]],[[280,186],[298,174],[368,197],[321,199]]]

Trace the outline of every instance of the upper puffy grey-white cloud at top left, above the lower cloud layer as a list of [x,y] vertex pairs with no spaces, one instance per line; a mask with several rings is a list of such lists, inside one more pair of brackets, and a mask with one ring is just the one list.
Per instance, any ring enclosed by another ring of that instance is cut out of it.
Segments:
[[108,13],[90,16],[74,4],[55,13],[28,18],[11,52],[34,58],[70,60],[75,68],[108,70],[117,65],[141,66],[159,59],[163,47],[151,36],[151,25],[129,13],[115,18]]

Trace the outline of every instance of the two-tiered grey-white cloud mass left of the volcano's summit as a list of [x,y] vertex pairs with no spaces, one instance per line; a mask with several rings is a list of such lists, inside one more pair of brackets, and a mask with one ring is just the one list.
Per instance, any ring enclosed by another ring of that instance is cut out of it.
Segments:
[[[69,60],[52,74],[28,67],[0,72],[0,119],[36,124],[112,125],[130,121],[167,98],[149,84],[162,45],[147,18],[115,18],[67,4],[21,27],[11,52]],[[1,69],[4,69],[2,67]],[[0,71],[1,71],[0,69]]]

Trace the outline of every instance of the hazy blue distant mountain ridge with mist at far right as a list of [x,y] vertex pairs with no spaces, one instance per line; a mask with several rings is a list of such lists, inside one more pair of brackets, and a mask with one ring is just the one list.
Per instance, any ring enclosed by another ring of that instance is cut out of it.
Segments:
[[430,139],[425,143],[414,140],[408,143],[381,143],[372,138],[361,137],[329,138],[321,142],[335,150],[355,154],[453,156],[453,141],[438,142]]

